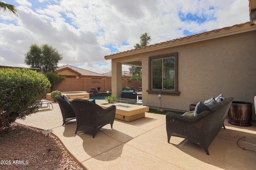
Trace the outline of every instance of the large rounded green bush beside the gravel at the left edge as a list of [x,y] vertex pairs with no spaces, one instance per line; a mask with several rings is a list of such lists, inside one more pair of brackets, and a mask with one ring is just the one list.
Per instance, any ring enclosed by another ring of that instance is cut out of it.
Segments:
[[0,68],[0,129],[35,113],[50,85],[49,80],[36,71]]

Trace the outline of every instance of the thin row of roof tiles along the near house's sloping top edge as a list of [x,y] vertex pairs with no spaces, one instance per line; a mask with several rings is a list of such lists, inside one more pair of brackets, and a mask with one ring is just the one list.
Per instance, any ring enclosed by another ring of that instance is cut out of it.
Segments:
[[240,23],[240,24],[236,24],[236,25],[233,25],[233,26],[230,26],[230,27],[223,27],[223,28],[220,28],[220,29],[214,29],[212,31],[206,31],[206,32],[203,32],[203,33],[198,33],[198,34],[195,34],[195,35],[189,35],[189,36],[186,36],[186,37],[181,37],[181,38],[177,38],[177,39],[172,39],[170,41],[165,41],[165,42],[161,42],[161,43],[156,43],[156,44],[152,44],[152,45],[148,45],[148,46],[145,46],[145,47],[140,47],[140,48],[136,48],[136,49],[131,49],[131,50],[128,50],[128,51],[123,51],[123,52],[119,52],[119,53],[114,53],[114,54],[111,54],[111,55],[106,55],[105,56],[105,59],[106,57],[112,57],[114,55],[118,55],[118,54],[123,54],[123,53],[128,53],[128,52],[131,52],[131,51],[137,51],[137,50],[140,50],[140,49],[146,49],[146,48],[149,48],[149,47],[155,47],[155,46],[158,46],[158,45],[163,45],[163,44],[168,44],[170,42],[175,42],[175,41],[182,41],[184,39],[190,39],[192,37],[199,37],[200,35],[208,35],[212,32],[219,32],[221,30],[229,30],[231,29],[232,27],[242,27],[246,24],[250,24],[250,25],[255,25],[254,22],[251,22],[251,21],[248,21],[246,23]]

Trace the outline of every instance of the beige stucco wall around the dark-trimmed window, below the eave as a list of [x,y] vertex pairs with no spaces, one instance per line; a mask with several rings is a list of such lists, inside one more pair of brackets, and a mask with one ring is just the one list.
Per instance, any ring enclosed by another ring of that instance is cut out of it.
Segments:
[[[148,57],[178,52],[180,96],[162,95],[162,107],[188,111],[222,93],[235,101],[254,103],[256,95],[256,31],[180,45],[142,56],[143,104],[160,107],[158,94],[148,94]],[[136,56],[134,56],[136,57]],[[253,119],[256,114],[253,106]]]

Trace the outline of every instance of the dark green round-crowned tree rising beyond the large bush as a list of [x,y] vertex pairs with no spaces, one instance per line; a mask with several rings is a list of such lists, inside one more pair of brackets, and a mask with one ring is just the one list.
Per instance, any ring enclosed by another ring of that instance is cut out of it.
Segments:
[[41,47],[33,44],[25,54],[25,63],[31,68],[40,68],[42,72],[55,72],[62,55],[51,45],[44,44]]

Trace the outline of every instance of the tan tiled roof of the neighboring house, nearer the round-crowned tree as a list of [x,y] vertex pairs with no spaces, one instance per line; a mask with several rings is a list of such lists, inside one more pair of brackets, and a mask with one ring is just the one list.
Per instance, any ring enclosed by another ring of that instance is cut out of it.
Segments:
[[68,64],[64,65],[64,66],[58,67],[57,68],[57,72],[59,70],[64,70],[64,69],[69,69],[69,70],[71,70],[73,72],[76,72],[80,76],[101,76],[101,77],[105,77],[105,75],[103,75],[103,74],[99,74],[99,73],[96,73],[96,72],[84,70],[82,68],[78,68],[78,67],[71,66],[71,65],[68,65]]

